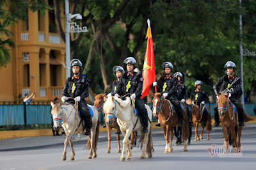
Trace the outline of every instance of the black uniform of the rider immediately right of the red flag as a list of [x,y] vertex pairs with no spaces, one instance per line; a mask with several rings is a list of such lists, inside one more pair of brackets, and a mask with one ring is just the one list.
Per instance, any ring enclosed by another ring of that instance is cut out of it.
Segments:
[[168,96],[166,99],[170,100],[172,102],[173,106],[175,107],[175,112],[177,112],[177,116],[180,121],[183,121],[183,114],[182,109],[180,106],[180,102],[177,98],[178,93],[178,79],[177,77],[170,76],[169,78],[164,77],[161,79],[159,83],[159,89],[160,91],[163,91],[163,93],[168,93]]

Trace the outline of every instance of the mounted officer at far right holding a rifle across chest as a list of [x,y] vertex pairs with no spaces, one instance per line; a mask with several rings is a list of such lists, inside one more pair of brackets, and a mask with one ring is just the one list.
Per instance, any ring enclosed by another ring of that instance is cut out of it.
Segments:
[[[236,65],[232,61],[228,61],[224,68],[226,69],[226,75],[223,75],[218,82],[213,86],[214,92],[217,95],[221,93],[224,89],[226,89],[230,84],[237,78],[235,74]],[[220,91],[218,91],[220,88]],[[243,95],[243,91],[241,89],[241,79],[237,80],[236,83],[232,87],[234,91],[228,93],[228,98],[230,101],[236,106],[238,112],[238,119],[239,119],[239,127],[244,126],[244,109],[239,101],[241,95]],[[218,114],[218,104],[213,107],[214,110],[214,127],[220,126],[220,116]]]

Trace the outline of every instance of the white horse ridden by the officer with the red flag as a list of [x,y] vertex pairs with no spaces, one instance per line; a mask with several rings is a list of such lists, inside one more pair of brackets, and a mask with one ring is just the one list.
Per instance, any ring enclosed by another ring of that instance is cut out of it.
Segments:
[[[131,98],[126,97],[125,100],[122,100],[118,97],[109,97],[104,98],[105,104],[103,106],[104,113],[106,114],[106,123],[107,125],[112,125],[114,117],[116,116],[117,123],[120,127],[122,134],[124,135],[123,140],[123,150],[120,160],[131,160],[131,148],[129,147],[129,136],[131,132],[140,131],[142,133],[142,125],[140,118],[133,114],[133,108],[131,107]],[[151,132],[151,121],[152,121],[152,111],[148,105],[145,105],[148,111],[148,133],[143,134],[140,139],[141,148],[143,147],[143,153],[141,158],[145,158],[146,150],[148,153],[148,158],[152,157],[152,152],[154,151],[152,143],[152,132]],[[128,155],[125,158],[125,145],[128,148]]]

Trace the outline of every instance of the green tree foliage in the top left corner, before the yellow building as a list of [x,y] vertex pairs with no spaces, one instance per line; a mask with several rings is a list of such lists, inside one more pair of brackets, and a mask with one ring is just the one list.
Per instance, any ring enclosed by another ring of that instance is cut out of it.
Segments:
[[44,15],[45,10],[51,10],[44,0],[31,0],[29,2],[19,0],[3,0],[0,1],[0,67],[6,66],[11,61],[10,49],[15,43],[10,27],[19,20],[24,20],[28,17],[26,11],[40,11]]

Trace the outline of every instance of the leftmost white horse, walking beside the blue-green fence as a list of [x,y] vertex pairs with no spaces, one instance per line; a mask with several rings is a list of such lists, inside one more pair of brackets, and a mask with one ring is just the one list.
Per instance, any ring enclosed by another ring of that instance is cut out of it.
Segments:
[[[76,109],[73,109],[73,105],[71,104],[53,104],[52,105],[52,119],[53,119],[53,128],[54,130],[59,130],[59,128],[62,126],[65,130],[65,134],[67,135],[65,141],[64,141],[64,151],[62,155],[62,160],[66,160],[66,154],[67,154],[67,145],[70,144],[70,148],[72,151],[72,155],[70,157],[70,160],[75,159],[75,150],[74,150],[74,144],[72,141],[72,134],[76,131],[83,131],[82,123],[80,123],[80,117],[78,113],[76,112]],[[93,110],[93,117],[92,117],[92,128],[91,128],[91,134],[88,135],[88,143],[86,144],[87,149],[90,149],[90,154],[88,156],[88,159],[92,159],[97,157],[97,143],[99,139],[99,113],[98,111],[92,107],[92,105],[88,105]],[[84,122],[83,122],[84,123]]]

